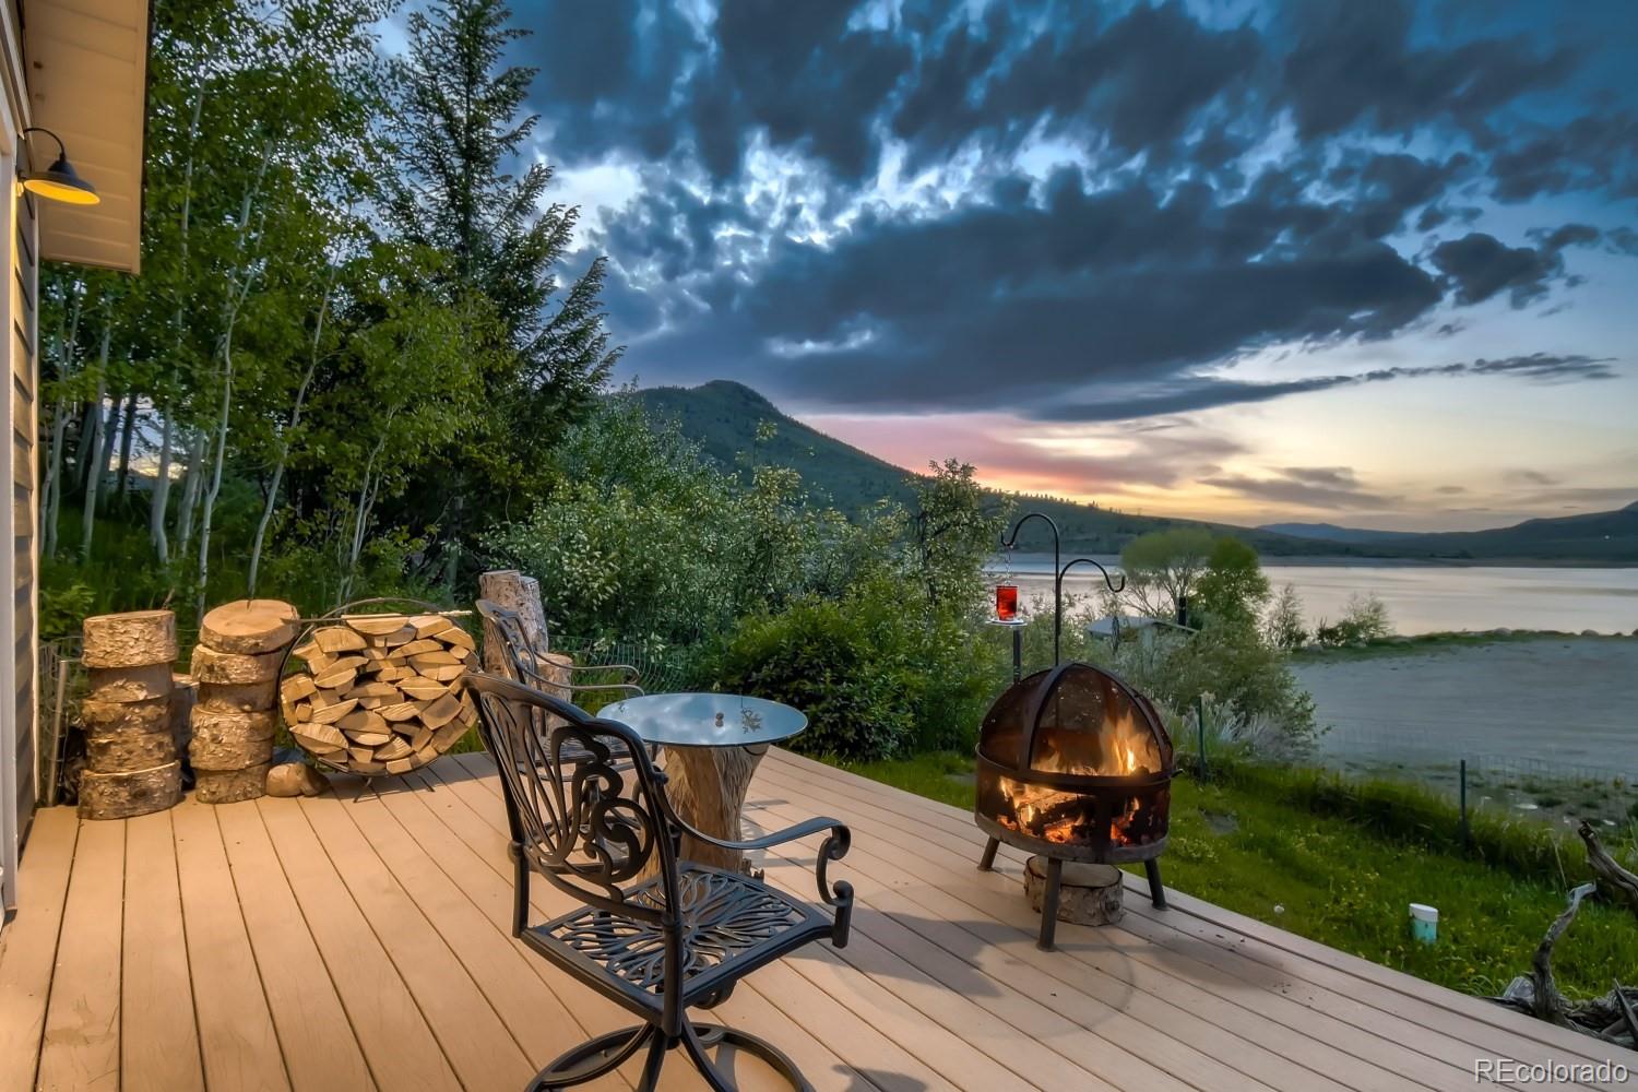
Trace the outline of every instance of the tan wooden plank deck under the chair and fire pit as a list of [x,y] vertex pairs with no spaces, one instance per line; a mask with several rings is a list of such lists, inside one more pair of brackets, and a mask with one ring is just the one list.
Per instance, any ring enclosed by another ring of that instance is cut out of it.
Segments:
[[[631,1023],[508,935],[486,758],[380,797],[339,787],[128,822],[41,812],[0,933],[0,1092],[514,1090]],[[860,900],[852,945],[770,966],[708,1017],[770,1038],[817,1089],[1445,1092],[1474,1084],[1476,1058],[1605,1056],[1186,896],[1158,912],[1133,887],[1122,927],[1063,925],[1061,950],[1037,951],[1019,855],[978,873],[968,815],[786,753],[749,814],[853,827],[834,871]],[[814,845],[786,850],[768,878],[811,897]],[[542,915],[563,909],[536,892]],[[680,1056],[663,1085],[703,1087]]]

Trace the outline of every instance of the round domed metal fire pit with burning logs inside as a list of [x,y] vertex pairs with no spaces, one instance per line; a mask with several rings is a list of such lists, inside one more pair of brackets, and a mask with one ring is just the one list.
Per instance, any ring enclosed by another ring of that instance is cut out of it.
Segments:
[[1061,663],[1014,683],[978,735],[975,817],[989,835],[981,869],[1006,842],[1047,858],[1040,946],[1058,925],[1065,861],[1143,861],[1150,897],[1166,907],[1160,856],[1174,773],[1171,738],[1148,697],[1089,663]]

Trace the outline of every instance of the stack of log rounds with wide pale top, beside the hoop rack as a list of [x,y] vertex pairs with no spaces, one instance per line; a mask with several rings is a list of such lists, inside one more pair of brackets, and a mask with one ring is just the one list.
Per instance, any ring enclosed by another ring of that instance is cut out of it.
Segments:
[[277,599],[229,602],[200,624],[192,666],[198,696],[188,742],[200,802],[265,796],[278,727],[278,668],[295,637],[296,609]]

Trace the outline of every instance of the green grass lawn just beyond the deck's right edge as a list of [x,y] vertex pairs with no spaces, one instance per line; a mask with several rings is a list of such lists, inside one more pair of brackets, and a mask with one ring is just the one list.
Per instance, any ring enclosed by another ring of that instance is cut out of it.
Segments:
[[[919,796],[971,809],[966,755],[935,753],[847,769]],[[1499,994],[1530,968],[1568,889],[1590,879],[1579,843],[1563,874],[1540,881],[1456,853],[1384,837],[1348,819],[1281,799],[1258,784],[1173,783],[1166,884],[1332,948],[1468,994]],[[1140,871],[1140,869],[1138,869]],[[1440,910],[1440,940],[1410,940],[1407,904]],[[1589,902],[1554,950],[1569,995],[1597,995],[1638,976],[1638,920]]]

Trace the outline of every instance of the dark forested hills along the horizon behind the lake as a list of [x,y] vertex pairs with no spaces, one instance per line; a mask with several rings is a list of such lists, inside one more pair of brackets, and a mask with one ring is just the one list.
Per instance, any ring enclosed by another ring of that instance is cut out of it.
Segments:
[[[726,468],[745,473],[760,465],[791,467],[816,499],[845,512],[863,511],[881,498],[909,504],[911,475],[790,417],[757,391],[716,380],[701,386],[655,386],[637,391],[657,417],[675,419]],[[757,442],[757,426],[775,426],[770,440]],[[960,452],[950,452],[960,455]],[[1066,552],[1119,553],[1140,534],[1168,527],[1210,527],[1233,534],[1265,557],[1405,558],[1405,560],[1554,560],[1638,563],[1638,504],[1618,512],[1532,519],[1517,527],[1437,534],[1396,534],[1335,524],[1271,524],[1235,527],[1160,516],[1129,516],[1096,504],[1055,498],[994,493],[1019,509],[1040,511],[1058,524]],[[1037,545],[1037,540],[1030,540]],[[1040,548],[1037,545],[1037,548]]]

